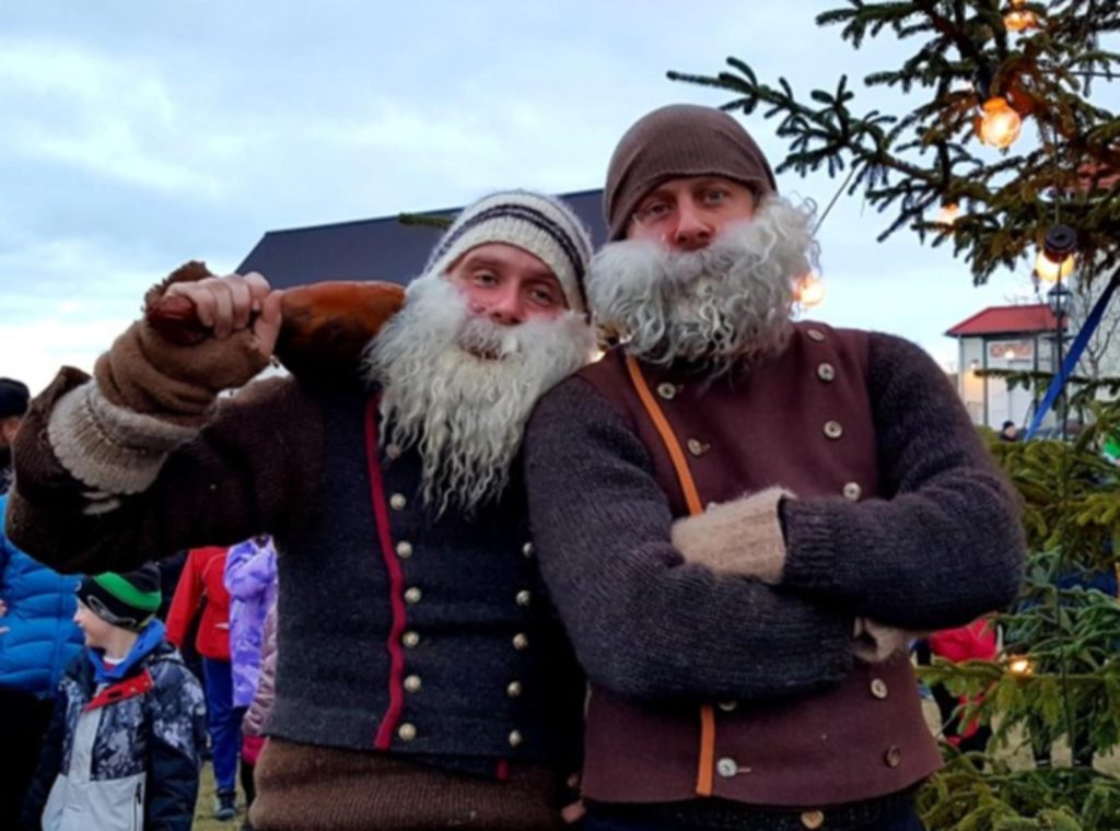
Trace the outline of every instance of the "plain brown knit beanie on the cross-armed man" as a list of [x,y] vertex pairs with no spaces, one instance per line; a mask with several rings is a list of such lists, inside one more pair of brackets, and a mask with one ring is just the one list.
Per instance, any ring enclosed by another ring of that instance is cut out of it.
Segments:
[[691,176],[722,176],[759,194],[777,193],[769,162],[738,121],[711,106],[663,106],[638,119],[610,157],[603,195],[610,241],[626,236],[647,193]]

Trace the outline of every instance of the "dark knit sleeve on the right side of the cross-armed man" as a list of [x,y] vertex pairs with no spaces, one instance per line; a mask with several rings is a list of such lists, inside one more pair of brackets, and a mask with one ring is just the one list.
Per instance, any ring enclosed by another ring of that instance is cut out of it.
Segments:
[[963,625],[1018,591],[1018,496],[928,355],[868,348],[883,497],[785,501],[783,586],[900,628]]

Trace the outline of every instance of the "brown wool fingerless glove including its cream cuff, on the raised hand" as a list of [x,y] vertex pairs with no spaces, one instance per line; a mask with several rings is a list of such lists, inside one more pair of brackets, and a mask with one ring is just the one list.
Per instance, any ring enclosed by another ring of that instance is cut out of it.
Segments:
[[[203,263],[187,263],[148,290],[146,311],[171,283],[207,277]],[[251,328],[181,345],[139,320],[97,358],[94,381],[56,402],[47,437],[91,498],[138,493],[168,454],[197,435],[222,390],[241,386],[268,364]]]

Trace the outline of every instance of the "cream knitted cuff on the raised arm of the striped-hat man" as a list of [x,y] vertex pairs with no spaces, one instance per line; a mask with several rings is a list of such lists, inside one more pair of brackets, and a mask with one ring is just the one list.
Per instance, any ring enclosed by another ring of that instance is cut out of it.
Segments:
[[59,464],[85,485],[110,494],[143,491],[167,455],[198,433],[110,402],[90,381],[55,404],[47,438]]

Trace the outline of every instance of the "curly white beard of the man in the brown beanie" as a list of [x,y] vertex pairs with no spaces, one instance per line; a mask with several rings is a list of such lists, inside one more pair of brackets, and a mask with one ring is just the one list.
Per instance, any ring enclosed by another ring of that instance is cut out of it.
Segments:
[[612,243],[591,261],[588,301],[596,321],[644,361],[727,370],[786,344],[794,283],[816,260],[811,228],[812,206],[772,196],[699,251]]

